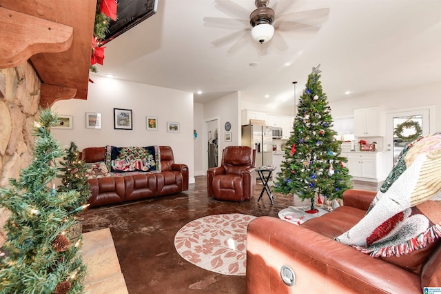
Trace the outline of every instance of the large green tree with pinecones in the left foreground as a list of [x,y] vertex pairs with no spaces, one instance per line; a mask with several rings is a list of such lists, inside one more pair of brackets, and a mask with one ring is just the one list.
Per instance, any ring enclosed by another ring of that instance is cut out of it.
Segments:
[[8,239],[0,254],[1,293],[81,293],[85,265],[77,254],[82,239],[71,243],[66,232],[82,210],[75,190],[57,193],[54,178],[63,150],[50,134],[57,115],[41,110],[34,124],[34,160],[0,189],[0,206],[10,210]]

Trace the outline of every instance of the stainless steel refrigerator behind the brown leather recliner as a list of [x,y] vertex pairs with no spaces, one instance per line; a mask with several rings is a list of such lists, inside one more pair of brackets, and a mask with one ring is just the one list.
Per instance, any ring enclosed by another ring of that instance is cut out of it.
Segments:
[[256,149],[256,167],[273,164],[273,130],[271,126],[242,126],[242,146]]

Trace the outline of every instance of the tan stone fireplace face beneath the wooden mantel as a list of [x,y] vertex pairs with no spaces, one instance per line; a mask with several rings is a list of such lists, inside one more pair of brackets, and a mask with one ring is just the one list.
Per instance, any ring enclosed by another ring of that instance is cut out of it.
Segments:
[[[28,61],[0,69],[0,187],[18,179],[32,161],[32,125],[39,115],[40,79]],[[0,208],[0,246],[8,212]]]

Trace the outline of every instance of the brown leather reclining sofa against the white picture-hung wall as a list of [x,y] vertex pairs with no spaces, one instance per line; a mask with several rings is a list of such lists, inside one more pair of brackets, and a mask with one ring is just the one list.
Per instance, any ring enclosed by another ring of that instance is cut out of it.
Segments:
[[[89,179],[90,207],[119,204],[149,197],[172,195],[188,190],[188,166],[175,164],[170,146],[160,146],[161,172]],[[85,148],[85,162],[105,160],[105,147]]]

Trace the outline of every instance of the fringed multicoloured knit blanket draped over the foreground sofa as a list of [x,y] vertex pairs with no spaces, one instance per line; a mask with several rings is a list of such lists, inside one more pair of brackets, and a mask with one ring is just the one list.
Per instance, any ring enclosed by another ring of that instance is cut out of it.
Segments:
[[441,133],[406,146],[358,224],[338,242],[373,257],[408,254],[441,237]]

